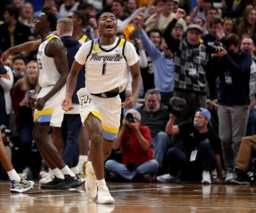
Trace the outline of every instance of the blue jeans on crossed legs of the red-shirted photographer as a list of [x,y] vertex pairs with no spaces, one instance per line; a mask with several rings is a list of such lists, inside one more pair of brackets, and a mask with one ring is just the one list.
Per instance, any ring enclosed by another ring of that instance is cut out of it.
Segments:
[[130,172],[125,164],[118,163],[116,160],[107,160],[105,163],[105,168],[109,172],[114,172],[119,174],[126,180],[131,180],[135,176],[135,174],[152,174],[158,172],[158,161],[156,160],[148,160],[145,163],[141,164],[137,169],[133,172]]

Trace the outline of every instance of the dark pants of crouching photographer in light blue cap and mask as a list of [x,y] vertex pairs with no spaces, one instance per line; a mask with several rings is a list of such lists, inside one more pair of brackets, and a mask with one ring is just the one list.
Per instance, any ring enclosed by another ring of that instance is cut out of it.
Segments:
[[[176,176],[178,171],[186,172],[189,168],[190,156],[187,156],[185,152],[177,149],[170,148],[167,151],[167,157],[169,162],[169,173],[172,176]],[[211,171],[214,167],[214,152],[209,142],[202,141],[199,149],[197,150],[196,163],[203,167],[204,171]]]

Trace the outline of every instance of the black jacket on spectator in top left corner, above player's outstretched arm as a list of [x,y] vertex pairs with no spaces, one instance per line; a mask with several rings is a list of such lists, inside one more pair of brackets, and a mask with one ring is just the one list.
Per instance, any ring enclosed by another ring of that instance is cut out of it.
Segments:
[[[11,47],[8,26],[9,24],[0,25],[0,50],[3,51]],[[18,21],[14,30],[14,45],[28,41],[30,35],[30,28]]]

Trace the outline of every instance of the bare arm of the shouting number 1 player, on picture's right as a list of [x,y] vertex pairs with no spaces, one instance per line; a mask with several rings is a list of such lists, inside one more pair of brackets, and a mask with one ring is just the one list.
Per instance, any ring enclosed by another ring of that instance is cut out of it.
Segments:
[[123,108],[133,108],[138,100],[139,92],[141,91],[141,68],[139,67],[139,61],[130,66],[130,70],[131,75],[133,76],[133,80],[131,82],[133,94],[130,97],[127,97],[122,103]]

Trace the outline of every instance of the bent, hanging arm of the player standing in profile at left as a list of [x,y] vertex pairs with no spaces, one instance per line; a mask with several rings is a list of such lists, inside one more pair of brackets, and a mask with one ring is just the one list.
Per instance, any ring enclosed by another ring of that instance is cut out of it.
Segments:
[[68,76],[68,59],[65,53],[63,42],[61,42],[59,39],[51,40],[46,48],[46,54],[53,57],[57,71],[60,74],[60,78],[57,80],[52,89],[47,93],[47,95],[36,100],[35,107],[38,110],[42,110],[46,101],[48,101],[53,95],[60,91],[60,89],[65,85]]

